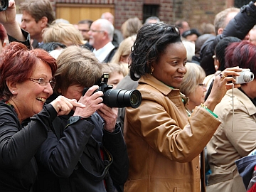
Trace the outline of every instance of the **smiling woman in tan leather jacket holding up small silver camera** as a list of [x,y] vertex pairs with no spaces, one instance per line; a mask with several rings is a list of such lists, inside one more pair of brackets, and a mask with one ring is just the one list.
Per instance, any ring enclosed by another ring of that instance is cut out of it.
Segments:
[[[212,111],[232,87],[227,82],[234,79],[218,76],[208,100],[188,118],[188,98],[179,90],[187,58],[178,28],[164,23],[142,26],[131,60],[130,75],[139,79],[142,104],[127,108],[124,119],[129,155],[124,191],[206,191],[199,155],[220,124]],[[229,68],[223,73],[238,75],[235,71],[240,70]]]

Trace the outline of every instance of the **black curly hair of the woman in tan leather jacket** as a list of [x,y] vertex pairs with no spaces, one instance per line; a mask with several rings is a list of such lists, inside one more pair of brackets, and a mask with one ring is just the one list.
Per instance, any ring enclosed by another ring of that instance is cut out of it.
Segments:
[[181,34],[176,26],[165,23],[148,23],[139,29],[132,46],[130,75],[139,80],[142,75],[151,73],[151,65],[164,53],[170,43],[181,42]]

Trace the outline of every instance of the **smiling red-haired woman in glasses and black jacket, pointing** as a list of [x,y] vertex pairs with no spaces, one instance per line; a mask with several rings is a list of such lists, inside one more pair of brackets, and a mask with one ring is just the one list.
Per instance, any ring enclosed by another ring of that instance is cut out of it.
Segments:
[[21,43],[10,43],[1,53],[1,191],[31,191],[38,171],[34,155],[51,122],[74,106],[85,107],[63,96],[44,105],[53,93],[56,69],[55,59],[45,50],[28,50]]

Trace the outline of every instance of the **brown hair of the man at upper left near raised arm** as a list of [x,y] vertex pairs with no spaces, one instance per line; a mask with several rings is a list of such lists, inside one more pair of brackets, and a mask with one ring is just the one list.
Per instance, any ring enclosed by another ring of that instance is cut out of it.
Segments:
[[48,18],[48,24],[52,23],[55,19],[53,6],[49,0],[26,0],[19,6],[20,11],[26,11],[33,18],[36,23],[46,16]]

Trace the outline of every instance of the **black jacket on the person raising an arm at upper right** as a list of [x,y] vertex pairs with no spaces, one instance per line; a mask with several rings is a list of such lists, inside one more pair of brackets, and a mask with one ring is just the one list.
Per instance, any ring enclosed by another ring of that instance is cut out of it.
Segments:
[[215,38],[208,39],[201,48],[201,67],[205,70],[206,76],[215,73],[213,55],[215,46],[224,37],[234,36],[240,39],[245,38],[250,29],[256,24],[256,6],[250,1],[242,6],[240,13],[231,19],[222,34]]

